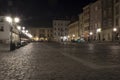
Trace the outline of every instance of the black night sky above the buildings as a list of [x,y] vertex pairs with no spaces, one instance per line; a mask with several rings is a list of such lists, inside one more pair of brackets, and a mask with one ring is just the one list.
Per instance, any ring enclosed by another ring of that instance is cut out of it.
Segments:
[[27,27],[51,27],[52,19],[77,16],[95,0],[0,0],[0,13],[20,16]]

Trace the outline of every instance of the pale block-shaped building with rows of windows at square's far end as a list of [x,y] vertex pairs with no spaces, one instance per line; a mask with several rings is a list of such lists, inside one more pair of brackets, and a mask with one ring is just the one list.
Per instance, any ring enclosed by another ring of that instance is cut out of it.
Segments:
[[69,20],[53,20],[54,41],[67,41]]

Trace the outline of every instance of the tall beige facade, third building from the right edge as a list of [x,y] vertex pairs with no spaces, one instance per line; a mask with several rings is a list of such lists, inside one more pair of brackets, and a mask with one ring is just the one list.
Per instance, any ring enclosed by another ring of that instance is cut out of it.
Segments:
[[90,39],[100,40],[101,32],[97,32],[102,27],[102,4],[101,0],[90,5]]

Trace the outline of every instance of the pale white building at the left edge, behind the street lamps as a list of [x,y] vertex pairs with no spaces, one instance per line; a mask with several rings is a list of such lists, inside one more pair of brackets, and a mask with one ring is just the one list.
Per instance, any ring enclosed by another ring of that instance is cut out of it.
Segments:
[[17,46],[19,42],[20,37],[16,24],[9,23],[5,16],[0,16],[0,49],[5,49],[3,46],[6,45],[5,47],[8,47],[9,50],[10,44]]

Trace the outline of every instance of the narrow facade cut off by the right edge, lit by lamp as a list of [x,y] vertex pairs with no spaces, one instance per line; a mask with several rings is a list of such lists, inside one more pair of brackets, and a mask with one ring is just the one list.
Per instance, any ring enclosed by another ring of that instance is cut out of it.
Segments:
[[114,28],[113,40],[120,39],[120,1],[114,0]]

